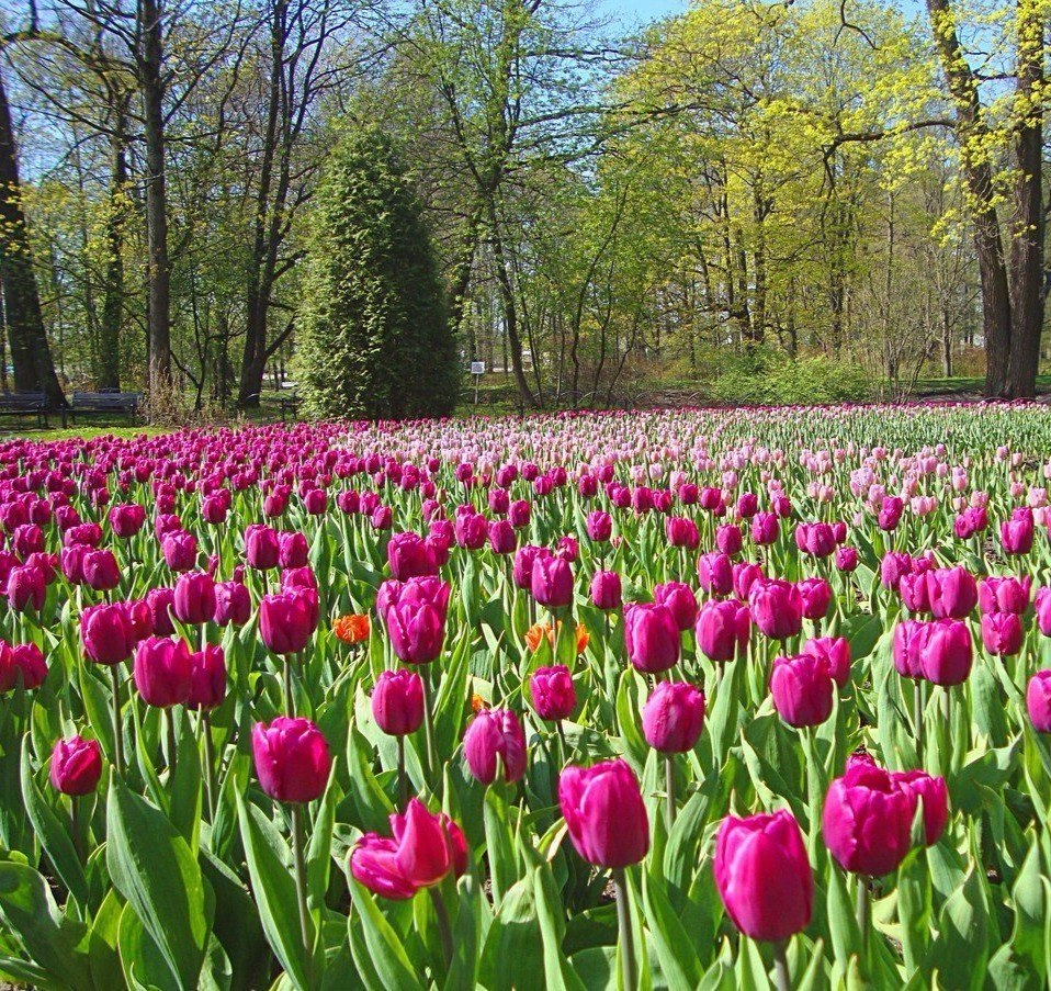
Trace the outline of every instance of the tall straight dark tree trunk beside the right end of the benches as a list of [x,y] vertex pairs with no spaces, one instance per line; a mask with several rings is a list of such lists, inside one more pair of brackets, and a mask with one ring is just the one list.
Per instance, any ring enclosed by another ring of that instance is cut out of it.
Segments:
[[139,0],[138,83],[146,144],[146,240],[149,258],[149,387],[171,386],[171,268],[165,178],[163,0]]

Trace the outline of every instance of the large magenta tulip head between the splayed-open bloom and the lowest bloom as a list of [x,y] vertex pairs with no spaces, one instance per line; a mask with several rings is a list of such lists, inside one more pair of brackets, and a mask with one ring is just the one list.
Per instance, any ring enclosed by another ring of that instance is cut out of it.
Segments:
[[638,780],[624,761],[567,767],[558,780],[558,804],[573,845],[589,864],[628,867],[646,856],[649,820]]

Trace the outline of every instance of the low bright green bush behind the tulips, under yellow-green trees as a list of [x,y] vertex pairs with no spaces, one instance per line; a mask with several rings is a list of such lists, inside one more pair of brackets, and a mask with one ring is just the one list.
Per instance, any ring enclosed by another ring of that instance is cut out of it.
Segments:
[[712,384],[715,402],[750,406],[818,406],[870,395],[862,369],[824,354],[793,359],[758,351],[724,365]]

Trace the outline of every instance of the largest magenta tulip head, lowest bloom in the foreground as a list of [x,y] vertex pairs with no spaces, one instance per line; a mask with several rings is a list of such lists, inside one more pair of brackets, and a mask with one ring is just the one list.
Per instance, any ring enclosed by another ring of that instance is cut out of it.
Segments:
[[724,819],[713,868],[726,914],[746,936],[779,943],[810,925],[814,874],[799,823],[784,809]]

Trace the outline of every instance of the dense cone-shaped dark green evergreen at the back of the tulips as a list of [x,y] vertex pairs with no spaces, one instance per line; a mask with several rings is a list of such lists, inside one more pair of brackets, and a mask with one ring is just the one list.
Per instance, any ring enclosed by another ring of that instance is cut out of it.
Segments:
[[430,235],[378,129],[355,127],[332,151],[307,252],[296,363],[307,414],[450,413],[459,354]]

